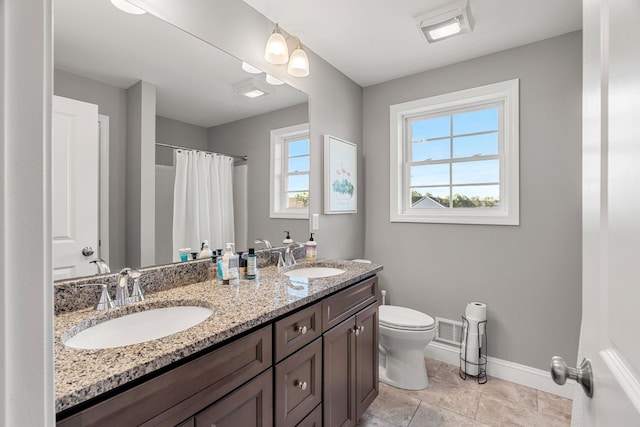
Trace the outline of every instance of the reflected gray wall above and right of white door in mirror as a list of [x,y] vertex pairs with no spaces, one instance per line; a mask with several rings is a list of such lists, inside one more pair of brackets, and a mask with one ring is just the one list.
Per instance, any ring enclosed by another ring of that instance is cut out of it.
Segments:
[[98,105],[109,116],[109,263],[125,265],[127,98],[124,89],[54,70],[55,95]]

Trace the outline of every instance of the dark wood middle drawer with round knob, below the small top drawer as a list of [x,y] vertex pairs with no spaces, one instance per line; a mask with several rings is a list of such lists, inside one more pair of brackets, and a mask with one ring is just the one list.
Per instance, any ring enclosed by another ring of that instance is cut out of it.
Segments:
[[295,426],[321,402],[322,339],[317,339],[276,365],[276,426]]

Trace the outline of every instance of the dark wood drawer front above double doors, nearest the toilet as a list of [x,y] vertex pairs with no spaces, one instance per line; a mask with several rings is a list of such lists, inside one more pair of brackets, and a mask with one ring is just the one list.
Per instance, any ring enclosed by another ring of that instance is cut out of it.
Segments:
[[322,330],[327,331],[377,300],[378,278],[372,277],[322,301]]

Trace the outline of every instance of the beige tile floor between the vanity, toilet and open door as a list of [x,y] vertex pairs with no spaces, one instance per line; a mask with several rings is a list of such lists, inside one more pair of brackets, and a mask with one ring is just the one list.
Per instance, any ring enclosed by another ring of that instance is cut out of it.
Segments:
[[430,385],[408,391],[380,383],[380,394],[358,425],[570,426],[571,400],[489,377],[462,380],[458,366],[426,359]]

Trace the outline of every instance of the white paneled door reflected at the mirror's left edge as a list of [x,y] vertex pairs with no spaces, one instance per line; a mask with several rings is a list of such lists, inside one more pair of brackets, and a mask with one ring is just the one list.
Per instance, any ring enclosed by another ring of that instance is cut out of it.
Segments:
[[53,279],[88,276],[98,257],[98,106],[53,97]]

